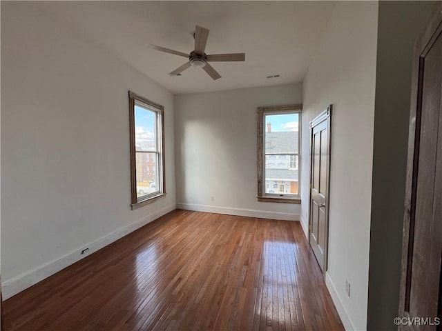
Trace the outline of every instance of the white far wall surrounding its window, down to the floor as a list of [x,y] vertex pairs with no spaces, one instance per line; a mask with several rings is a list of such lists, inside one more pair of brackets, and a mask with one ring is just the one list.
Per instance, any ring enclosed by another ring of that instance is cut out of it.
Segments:
[[298,103],[300,84],[177,95],[177,207],[298,220],[300,205],[256,199],[257,108]]

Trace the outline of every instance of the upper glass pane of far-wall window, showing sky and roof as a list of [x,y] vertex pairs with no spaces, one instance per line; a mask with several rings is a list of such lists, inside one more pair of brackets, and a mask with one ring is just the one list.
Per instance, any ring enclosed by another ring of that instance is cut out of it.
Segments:
[[299,114],[265,115],[265,154],[298,154]]

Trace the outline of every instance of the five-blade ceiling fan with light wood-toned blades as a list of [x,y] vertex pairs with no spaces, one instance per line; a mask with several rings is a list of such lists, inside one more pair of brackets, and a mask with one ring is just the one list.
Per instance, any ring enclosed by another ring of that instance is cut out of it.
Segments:
[[160,50],[160,52],[166,52],[170,54],[179,55],[180,57],[187,57],[188,62],[184,63],[179,68],[170,72],[171,76],[180,76],[181,72],[190,67],[202,68],[213,80],[221,78],[221,75],[209,64],[209,62],[215,61],[244,61],[245,53],[231,53],[231,54],[211,54],[208,55],[204,53],[206,49],[207,37],[209,37],[209,29],[202,28],[202,26],[196,26],[195,34],[195,50],[191,54],[186,54],[183,52],[178,52],[177,50],[169,50],[169,48],[164,48],[161,46],[156,46],[149,44],[149,48],[154,50]]

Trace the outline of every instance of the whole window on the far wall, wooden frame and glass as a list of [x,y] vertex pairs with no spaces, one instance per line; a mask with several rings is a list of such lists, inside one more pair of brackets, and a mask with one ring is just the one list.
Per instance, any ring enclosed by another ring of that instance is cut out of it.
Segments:
[[258,201],[300,203],[301,110],[302,105],[258,108]]

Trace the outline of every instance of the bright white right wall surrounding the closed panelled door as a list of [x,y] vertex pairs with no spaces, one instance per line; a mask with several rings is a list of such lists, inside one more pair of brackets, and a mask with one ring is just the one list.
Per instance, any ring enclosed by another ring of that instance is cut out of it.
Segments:
[[[377,2],[336,3],[303,84],[304,128],[330,103],[334,106],[326,283],[347,330],[365,330],[367,321],[377,21]],[[306,155],[308,130],[302,137]],[[308,168],[307,157],[302,168]],[[307,185],[303,172],[303,222]]]

